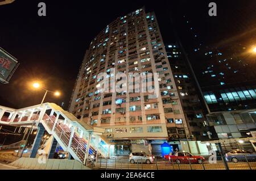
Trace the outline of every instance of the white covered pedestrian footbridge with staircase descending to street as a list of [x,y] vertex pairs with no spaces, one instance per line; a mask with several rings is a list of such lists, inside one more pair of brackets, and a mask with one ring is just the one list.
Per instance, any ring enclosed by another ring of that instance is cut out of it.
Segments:
[[[44,103],[42,106],[36,105],[19,110],[0,106],[0,127],[1,125],[37,129],[35,142],[36,140],[40,142],[42,130],[46,130],[52,134],[61,148],[84,164],[89,154],[97,151],[102,157],[109,157],[113,149],[113,145],[102,135],[104,129],[84,123],[54,103]],[[35,142],[33,149],[37,151]]]

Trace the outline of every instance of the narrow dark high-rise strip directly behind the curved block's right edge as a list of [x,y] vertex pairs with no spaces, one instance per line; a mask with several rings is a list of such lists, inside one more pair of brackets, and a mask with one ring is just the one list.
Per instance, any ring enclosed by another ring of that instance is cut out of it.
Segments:
[[[189,62],[184,58],[177,44],[166,44],[166,52],[188,128],[196,140],[209,140],[206,113]],[[174,128],[168,131],[176,132]]]

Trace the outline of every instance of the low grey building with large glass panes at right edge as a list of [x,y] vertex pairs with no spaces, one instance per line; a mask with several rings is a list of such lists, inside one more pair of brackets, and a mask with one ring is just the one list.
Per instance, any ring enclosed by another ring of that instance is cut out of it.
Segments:
[[225,150],[237,148],[255,151],[256,110],[213,112],[207,115],[213,140],[254,137],[250,141],[223,144]]

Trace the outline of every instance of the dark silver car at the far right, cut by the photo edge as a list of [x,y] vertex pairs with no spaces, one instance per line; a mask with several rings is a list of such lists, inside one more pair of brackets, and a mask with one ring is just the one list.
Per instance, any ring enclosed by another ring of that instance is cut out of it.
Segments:
[[254,162],[256,161],[256,153],[253,153],[251,151],[248,150],[242,150],[242,149],[236,149],[236,150],[232,150],[232,151],[228,151],[225,154],[226,157],[226,161],[230,161],[230,162]]

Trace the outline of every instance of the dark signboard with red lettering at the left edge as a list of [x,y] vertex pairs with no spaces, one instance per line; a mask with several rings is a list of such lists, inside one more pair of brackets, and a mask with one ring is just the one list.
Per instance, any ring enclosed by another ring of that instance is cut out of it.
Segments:
[[0,48],[0,82],[9,83],[11,75],[13,75],[18,65],[16,58]]

